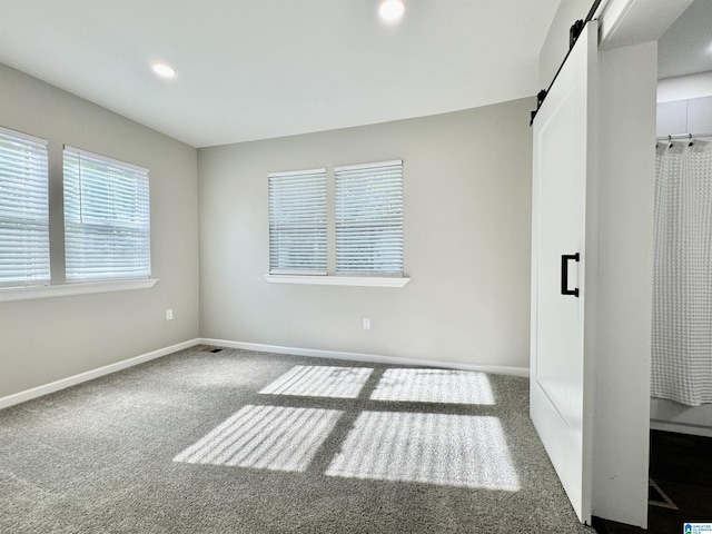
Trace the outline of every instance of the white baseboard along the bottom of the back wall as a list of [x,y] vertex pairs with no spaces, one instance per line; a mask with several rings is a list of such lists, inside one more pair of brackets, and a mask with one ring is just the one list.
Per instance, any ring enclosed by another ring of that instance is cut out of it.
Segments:
[[218,347],[241,348],[244,350],[257,350],[263,353],[290,354],[293,356],[310,356],[315,358],[350,359],[354,362],[368,362],[372,364],[417,365],[425,367],[446,367],[451,369],[478,370],[495,375],[530,376],[528,367],[511,367],[505,365],[468,364],[465,362],[447,362],[441,359],[402,358],[397,356],[380,356],[365,353],[345,353],[340,350],[319,350],[314,348],[280,347],[276,345],[263,345],[258,343],[230,342],[227,339],[201,338],[204,345]]

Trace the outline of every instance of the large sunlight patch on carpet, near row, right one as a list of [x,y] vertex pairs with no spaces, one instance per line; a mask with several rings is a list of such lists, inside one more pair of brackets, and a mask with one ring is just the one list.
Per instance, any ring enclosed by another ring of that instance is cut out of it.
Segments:
[[498,417],[364,412],[326,475],[520,490]]

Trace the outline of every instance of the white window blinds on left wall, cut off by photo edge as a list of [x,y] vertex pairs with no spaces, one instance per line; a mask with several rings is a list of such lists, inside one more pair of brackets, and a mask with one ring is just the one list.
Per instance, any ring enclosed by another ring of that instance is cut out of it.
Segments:
[[0,286],[49,284],[47,141],[0,128]]

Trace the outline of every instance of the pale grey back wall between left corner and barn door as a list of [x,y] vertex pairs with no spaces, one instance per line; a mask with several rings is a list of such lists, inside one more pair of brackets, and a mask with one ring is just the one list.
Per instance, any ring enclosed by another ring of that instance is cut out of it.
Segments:
[[[202,336],[527,367],[532,108],[522,99],[199,149]],[[406,287],[263,279],[268,172],[327,167],[332,176],[338,165],[395,158],[404,159]]]

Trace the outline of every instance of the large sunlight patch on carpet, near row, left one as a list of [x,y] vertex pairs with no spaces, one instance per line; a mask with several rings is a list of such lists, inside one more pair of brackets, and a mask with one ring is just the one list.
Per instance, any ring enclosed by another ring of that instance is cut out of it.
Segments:
[[248,405],[174,462],[304,472],[340,415],[336,409]]

